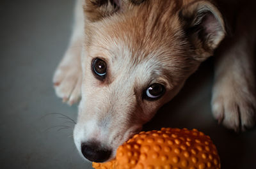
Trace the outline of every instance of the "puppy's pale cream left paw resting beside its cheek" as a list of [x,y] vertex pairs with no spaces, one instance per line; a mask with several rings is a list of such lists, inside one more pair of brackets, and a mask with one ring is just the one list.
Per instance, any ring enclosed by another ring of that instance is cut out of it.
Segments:
[[81,98],[82,70],[77,61],[61,61],[54,73],[53,83],[56,95],[73,105]]

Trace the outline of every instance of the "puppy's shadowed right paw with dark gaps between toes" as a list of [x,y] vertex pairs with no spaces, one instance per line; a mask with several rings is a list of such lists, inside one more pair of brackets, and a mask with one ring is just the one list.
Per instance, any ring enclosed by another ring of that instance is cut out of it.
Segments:
[[214,84],[212,113],[219,123],[235,131],[246,131],[256,121],[256,98],[253,91],[239,82]]

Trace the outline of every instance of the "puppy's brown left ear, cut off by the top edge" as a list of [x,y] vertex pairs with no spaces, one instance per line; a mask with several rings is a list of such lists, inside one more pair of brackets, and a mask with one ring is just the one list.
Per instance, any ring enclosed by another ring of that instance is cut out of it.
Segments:
[[91,22],[100,20],[116,13],[122,8],[125,10],[132,5],[138,5],[145,0],[85,0],[84,13]]

